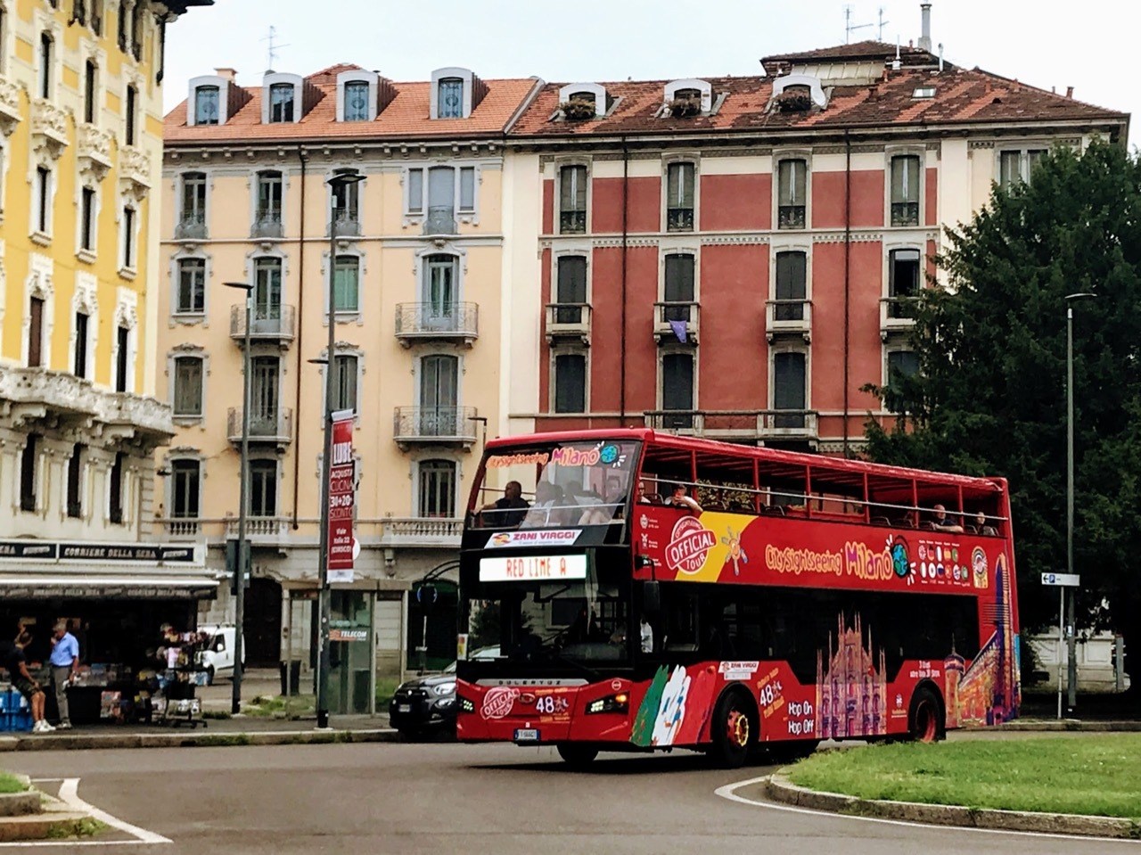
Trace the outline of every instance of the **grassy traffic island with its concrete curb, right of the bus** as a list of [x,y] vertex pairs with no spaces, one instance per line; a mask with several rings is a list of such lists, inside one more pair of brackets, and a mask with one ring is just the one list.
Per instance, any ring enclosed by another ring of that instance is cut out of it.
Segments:
[[1141,838],[1141,736],[871,745],[774,774],[775,801],[938,825]]

